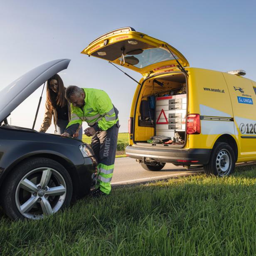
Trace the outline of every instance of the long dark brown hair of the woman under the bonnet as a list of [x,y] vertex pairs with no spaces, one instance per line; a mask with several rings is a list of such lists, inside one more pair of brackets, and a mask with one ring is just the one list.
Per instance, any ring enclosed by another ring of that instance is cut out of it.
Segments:
[[[55,79],[58,82],[57,93],[52,91],[52,89],[50,88],[50,81],[52,79]],[[52,76],[50,79],[47,80],[46,102],[49,105],[51,105],[53,108],[56,108],[57,106],[60,106],[61,108],[63,108],[67,103],[65,98],[65,87],[61,77],[58,74],[55,74],[54,76]]]

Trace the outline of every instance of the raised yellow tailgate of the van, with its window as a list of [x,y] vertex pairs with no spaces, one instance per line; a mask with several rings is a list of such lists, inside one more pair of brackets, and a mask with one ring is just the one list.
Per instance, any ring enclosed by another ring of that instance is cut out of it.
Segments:
[[113,30],[96,38],[81,53],[105,59],[141,73],[179,70],[177,61],[189,66],[187,59],[174,47],[131,27]]

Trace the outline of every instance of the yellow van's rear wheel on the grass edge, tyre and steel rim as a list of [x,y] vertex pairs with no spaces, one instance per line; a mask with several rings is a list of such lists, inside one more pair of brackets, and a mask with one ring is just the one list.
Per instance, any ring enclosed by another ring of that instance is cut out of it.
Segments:
[[204,172],[210,176],[224,177],[235,170],[234,150],[227,143],[216,143],[207,165],[204,165]]

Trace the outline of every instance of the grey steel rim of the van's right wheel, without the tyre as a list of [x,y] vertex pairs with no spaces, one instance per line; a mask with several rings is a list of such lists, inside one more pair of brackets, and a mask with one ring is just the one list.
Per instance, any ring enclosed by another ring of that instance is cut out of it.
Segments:
[[232,166],[232,158],[228,150],[220,150],[216,158],[216,168],[219,176],[229,175]]

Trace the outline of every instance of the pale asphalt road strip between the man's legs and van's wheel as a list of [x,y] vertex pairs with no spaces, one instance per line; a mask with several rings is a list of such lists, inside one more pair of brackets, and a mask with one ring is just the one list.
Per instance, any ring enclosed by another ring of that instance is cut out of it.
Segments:
[[116,158],[111,184],[118,185],[161,180],[169,177],[184,176],[195,172],[202,172],[202,169],[187,170],[181,166],[167,163],[162,170],[152,172],[144,170],[133,158]]

